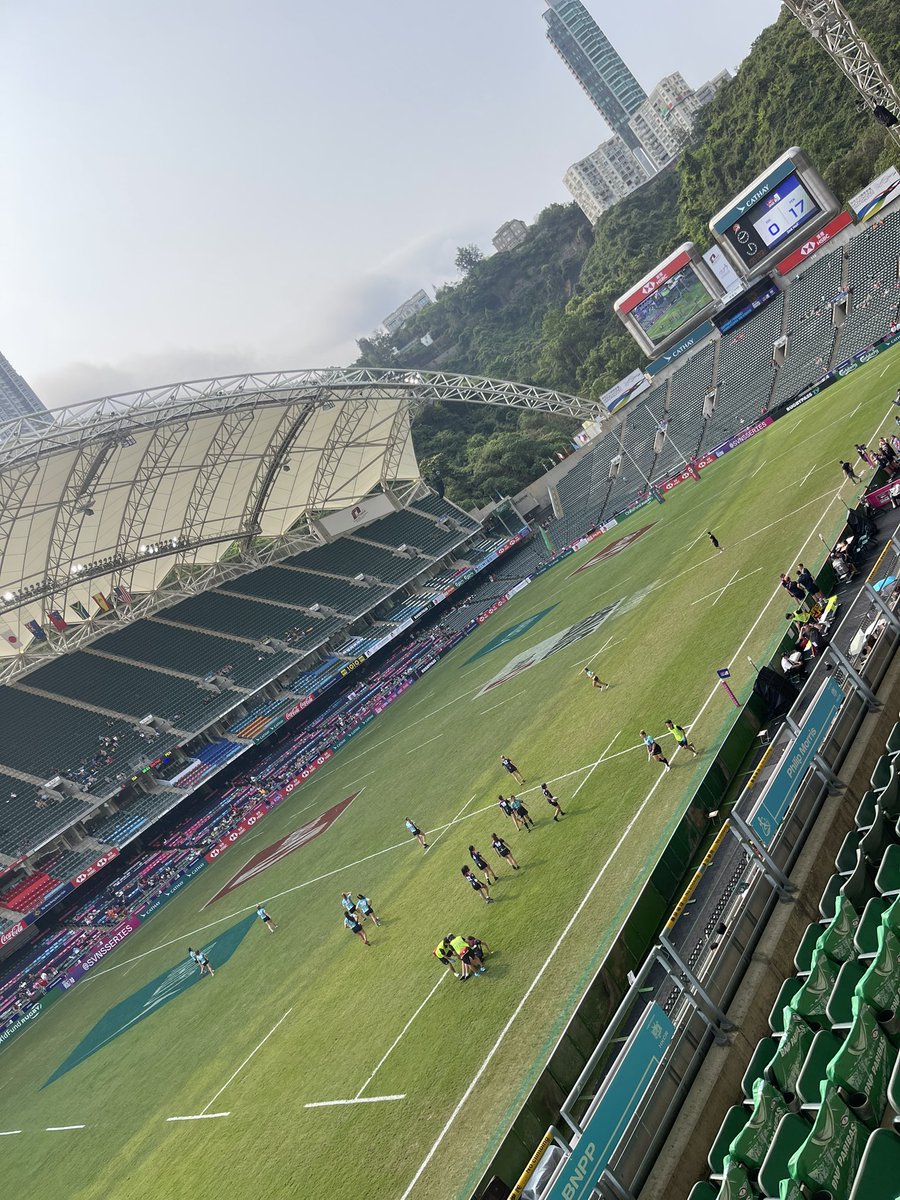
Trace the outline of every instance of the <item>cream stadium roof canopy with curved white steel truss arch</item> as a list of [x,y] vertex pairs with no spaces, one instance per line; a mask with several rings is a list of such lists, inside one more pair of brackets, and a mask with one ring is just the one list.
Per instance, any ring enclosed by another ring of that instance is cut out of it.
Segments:
[[[25,658],[97,635],[73,605],[97,616],[92,598],[113,595],[116,608],[124,588],[133,602],[116,617],[131,620],[318,544],[317,516],[373,490],[402,503],[419,484],[412,415],[430,400],[598,415],[512,383],[329,368],[181,383],[0,425],[0,682],[37,665]],[[50,613],[77,629],[58,636]]]

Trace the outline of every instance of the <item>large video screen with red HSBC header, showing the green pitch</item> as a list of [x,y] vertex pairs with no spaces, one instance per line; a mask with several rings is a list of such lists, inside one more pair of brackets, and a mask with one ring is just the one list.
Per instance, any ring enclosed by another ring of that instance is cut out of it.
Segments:
[[715,312],[724,294],[697,247],[685,241],[612,307],[641,349],[653,358]]

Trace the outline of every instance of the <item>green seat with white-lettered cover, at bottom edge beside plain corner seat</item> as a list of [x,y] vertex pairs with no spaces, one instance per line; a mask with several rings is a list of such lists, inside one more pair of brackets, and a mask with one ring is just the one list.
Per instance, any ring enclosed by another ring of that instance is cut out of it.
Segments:
[[[845,1043],[846,1044],[846,1043]],[[848,1195],[869,1130],[847,1108],[836,1090],[822,1084],[822,1103],[812,1130],[787,1164],[791,1178],[811,1195],[838,1200]]]

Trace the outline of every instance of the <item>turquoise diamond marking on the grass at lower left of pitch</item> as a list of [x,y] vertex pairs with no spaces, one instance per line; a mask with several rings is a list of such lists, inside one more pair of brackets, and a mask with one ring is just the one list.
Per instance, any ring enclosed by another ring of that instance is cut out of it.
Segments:
[[[256,913],[251,913],[244,920],[239,920],[236,925],[223,930],[211,942],[198,947],[208,955],[214,971],[218,971],[230,959],[256,919]],[[163,971],[161,976],[144,984],[143,988],[101,1016],[94,1028],[82,1038],[65,1062],[60,1063],[54,1070],[43,1087],[48,1087],[61,1075],[78,1067],[122,1033],[133,1030],[136,1025],[146,1020],[148,1016],[158,1013],[161,1008],[170,1001],[178,1000],[179,996],[182,996],[199,982],[200,973],[185,952],[185,958],[180,962],[169,967],[168,971]],[[215,980],[204,980],[204,986],[215,988]]]

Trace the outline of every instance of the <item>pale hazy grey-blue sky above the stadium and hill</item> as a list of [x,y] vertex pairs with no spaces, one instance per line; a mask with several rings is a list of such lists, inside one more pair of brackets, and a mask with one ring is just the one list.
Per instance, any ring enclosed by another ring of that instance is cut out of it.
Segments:
[[[588,7],[649,91],[779,0]],[[355,356],[608,136],[540,0],[0,0],[0,350],[55,407]]]

